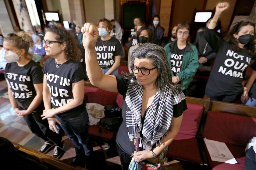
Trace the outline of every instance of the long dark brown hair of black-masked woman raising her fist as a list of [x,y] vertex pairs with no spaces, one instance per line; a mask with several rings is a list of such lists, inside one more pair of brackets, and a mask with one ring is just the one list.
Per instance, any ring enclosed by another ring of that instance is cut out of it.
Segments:
[[256,32],[255,32],[255,23],[250,22],[250,21],[240,21],[238,22],[236,25],[234,25],[230,30],[229,33],[225,36],[225,40],[227,42],[229,42],[230,44],[232,44],[232,48],[233,50],[236,52],[238,51],[239,47],[237,46],[238,44],[238,40],[233,36],[233,34],[238,34],[238,32],[240,31],[240,29],[243,26],[246,25],[251,25],[254,27],[254,36],[251,39],[250,42],[248,42],[248,44],[244,45],[244,49],[247,51],[248,54],[250,55],[255,55],[255,39],[256,39]]

